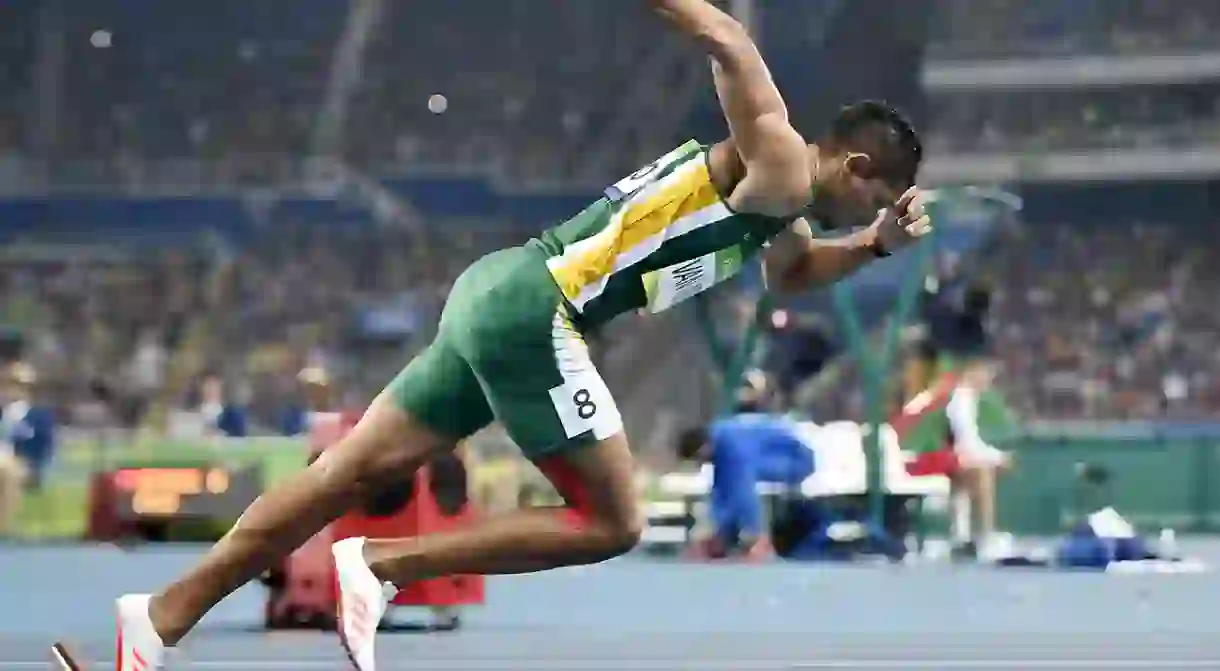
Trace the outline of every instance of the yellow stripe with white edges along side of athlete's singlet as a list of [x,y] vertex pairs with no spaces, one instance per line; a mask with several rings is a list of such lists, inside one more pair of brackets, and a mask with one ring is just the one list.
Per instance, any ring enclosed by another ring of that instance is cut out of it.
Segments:
[[564,295],[581,310],[615,272],[643,261],[669,239],[731,215],[706,162],[692,160],[632,196],[604,229],[570,245],[548,266]]

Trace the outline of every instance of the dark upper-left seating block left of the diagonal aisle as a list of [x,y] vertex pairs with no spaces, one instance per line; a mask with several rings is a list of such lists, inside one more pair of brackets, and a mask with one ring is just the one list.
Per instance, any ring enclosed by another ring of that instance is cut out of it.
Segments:
[[[59,150],[300,154],[345,16],[345,4],[320,0],[73,7],[62,17],[79,37],[66,40]],[[95,30],[109,46],[89,38]]]

